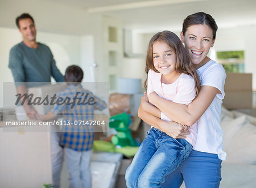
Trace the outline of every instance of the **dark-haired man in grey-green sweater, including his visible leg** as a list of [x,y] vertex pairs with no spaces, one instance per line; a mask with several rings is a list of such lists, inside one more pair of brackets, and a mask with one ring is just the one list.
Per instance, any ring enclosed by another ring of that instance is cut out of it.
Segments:
[[[21,95],[27,93],[28,83],[38,85],[51,82],[51,76],[56,82],[64,82],[64,76],[56,67],[55,60],[48,46],[36,41],[36,27],[34,19],[29,14],[22,14],[16,18],[16,25],[22,34],[23,41],[10,50],[9,68],[13,73],[16,90]],[[19,113],[25,116],[18,116]],[[27,116],[26,116],[27,115]],[[36,119],[37,112],[27,101],[16,108],[18,120]],[[63,163],[63,149],[59,146],[57,133],[51,134],[52,179],[54,187],[60,186],[60,170]]]

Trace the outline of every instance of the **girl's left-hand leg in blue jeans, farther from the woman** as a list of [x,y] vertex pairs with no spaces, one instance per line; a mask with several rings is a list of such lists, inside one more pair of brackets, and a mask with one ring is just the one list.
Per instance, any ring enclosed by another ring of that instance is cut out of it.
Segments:
[[138,187],[137,182],[142,170],[156,152],[155,140],[159,136],[159,133],[156,132],[156,130],[157,129],[152,128],[148,131],[146,138],[141,143],[141,146],[139,146],[133,161],[126,170],[125,180],[128,188]]

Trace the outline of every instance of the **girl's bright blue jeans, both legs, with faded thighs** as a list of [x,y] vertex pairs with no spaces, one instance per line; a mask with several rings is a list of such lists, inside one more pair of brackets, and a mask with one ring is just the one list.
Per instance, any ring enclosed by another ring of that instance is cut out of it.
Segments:
[[161,187],[164,177],[173,172],[192,151],[185,139],[174,139],[151,128],[127,168],[127,187]]

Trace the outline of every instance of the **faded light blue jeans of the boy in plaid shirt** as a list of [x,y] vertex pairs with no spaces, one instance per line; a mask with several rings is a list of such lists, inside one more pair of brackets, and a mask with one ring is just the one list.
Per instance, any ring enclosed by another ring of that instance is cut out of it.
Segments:
[[81,152],[65,148],[65,157],[67,159],[70,176],[69,188],[92,187],[90,156],[92,156],[92,150]]

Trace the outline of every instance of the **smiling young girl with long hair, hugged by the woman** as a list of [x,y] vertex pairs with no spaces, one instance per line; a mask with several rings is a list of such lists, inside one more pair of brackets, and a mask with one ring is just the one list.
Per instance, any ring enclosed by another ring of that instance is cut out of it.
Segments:
[[[189,54],[179,37],[170,31],[156,33],[148,45],[146,57],[148,95],[156,92],[164,99],[188,105],[199,93],[200,81]],[[155,106],[144,103],[148,113],[170,121]],[[160,113],[159,113],[160,112]],[[186,139],[174,139],[151,127],[126,171],[127,187],[160,187],[192,151],[196,142],[196,123],[189,127]]]

